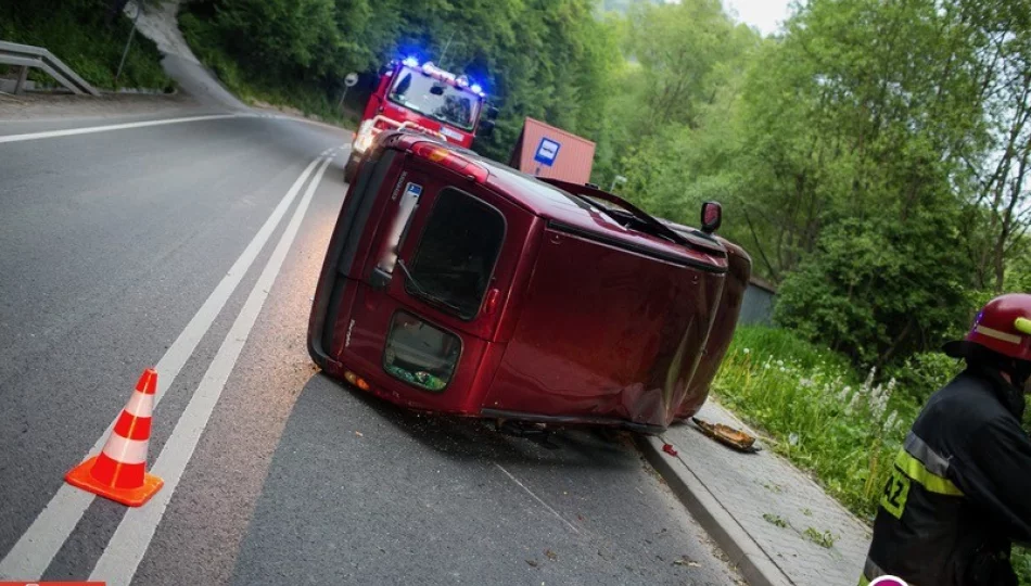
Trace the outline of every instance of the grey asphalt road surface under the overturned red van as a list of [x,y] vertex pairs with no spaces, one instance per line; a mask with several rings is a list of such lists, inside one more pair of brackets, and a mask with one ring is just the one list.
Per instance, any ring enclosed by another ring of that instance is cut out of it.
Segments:
[[[740,579],[624,436],[545,449],[316,371],[344,132],[233,116],[4,142],[88,126],[0,123],[0,578]],[[63,486],[154,365],[165,488],[127,513]]]

